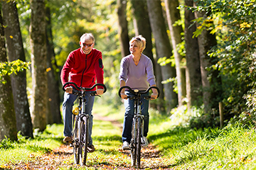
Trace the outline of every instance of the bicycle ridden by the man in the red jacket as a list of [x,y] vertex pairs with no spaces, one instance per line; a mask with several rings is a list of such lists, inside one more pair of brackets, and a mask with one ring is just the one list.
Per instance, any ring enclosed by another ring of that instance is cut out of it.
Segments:
[[[105,93],[107,88],[104,84],[95,84],[90,88],[78,87],[73,82],[67,82],[63,85],[63,91],[65,86],[73,85],[76,90],[73,90],[73,94],[78,96],[78,108],[73,109],[73,121],[72,121],[72,136],[73,141],[70,142],[70,146],[73,147],[73,154],[75,158],[75,164],[85,165],[87,159],[87,145],[88,145],[88,125],[89,115],[85,113],[86,98],[85,92],[91,91],[96,86],[102,86]],[[98,96],[96,91],[90,94],[90,96]],[[75,123],[75,124],[74,124]]]

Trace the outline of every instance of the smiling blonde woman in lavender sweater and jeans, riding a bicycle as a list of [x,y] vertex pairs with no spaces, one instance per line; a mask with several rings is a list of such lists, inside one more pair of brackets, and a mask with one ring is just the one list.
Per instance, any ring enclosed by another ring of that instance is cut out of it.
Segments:
[[[132,89],[145,91],[150,86],[156,86],[153,64],[149,57],[142,54],[146,47],[146,39],[139,35],[129,41],[130,55],[122,58],[120,65],[119,81],[120,87],[130,86]],[[152,89],[151,98],[157,98],[156,89]],[[147,96],[148,94],[146,94]],[[126,99],[132,96],[129,91],[121,91],[121,97]],[[132,139],[132,119],[134,117],[134,100],[127,99],[124,101],[124,128],[122,131],[122,149],[129,149],[129,142]],[[149,101],[142,98],[142,114],[144,115],[144,141],[143,147],[149,145],[146,139],[149,131]]]

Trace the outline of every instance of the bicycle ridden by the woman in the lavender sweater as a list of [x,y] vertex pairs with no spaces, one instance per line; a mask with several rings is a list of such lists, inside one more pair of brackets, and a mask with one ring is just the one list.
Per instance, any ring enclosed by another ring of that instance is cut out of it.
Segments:
[[[145,143],[144,141],[144,115],[142,115],[141,106],[142,101],[141,97],[142,94],[147,94],[151,89],[156,89],[158,91],[158,96],[160,94],[159,88],[156,86],[150,86],[146,91],[139,91],[138,89],[132,90],[129,86],[122,86],[118,94],[121,97],[122,89],[129,89],[129,91],[134,94],[134,96],[127,96],[129,99],[134,99],[134,118],[132,121],[132,140],[129,144],[130,154],[132,159],[132,166],[137,166],[140,169],[141,163],[141,148],[142,144]],[[149,100],[151,96],[144,96],[143,98]]]

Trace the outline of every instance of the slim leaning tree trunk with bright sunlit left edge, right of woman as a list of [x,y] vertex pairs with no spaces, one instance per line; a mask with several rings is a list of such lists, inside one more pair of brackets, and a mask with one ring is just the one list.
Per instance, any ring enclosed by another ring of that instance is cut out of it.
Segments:
[[178,106],[183,105],[183,99],[186,97],[186,74],[181,72],[181,60],[182,56],[178,53],[177,45],[182,42],[181,33],[183,33],[182,26],[174,26],[174,23],[181,19],[181,14],[178,10],[178,0],[164,0],[166,6],[166,16],[168,26],[171,34],[171,45],[173,47],[176,75],[177,75],[177,87],[178,87]]

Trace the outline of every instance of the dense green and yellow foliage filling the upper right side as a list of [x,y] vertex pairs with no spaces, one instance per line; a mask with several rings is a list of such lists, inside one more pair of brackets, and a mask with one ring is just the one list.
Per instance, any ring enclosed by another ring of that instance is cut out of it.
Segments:
[[[197,18],[200,23],[194,36],[208,30],[215,34],[218,45],[208,55],[218,62],[210,69],[217,69],[222,79],[225,118],[246,112],[245,96],[247,91],[255,89],[255,0],[208,0],[196,1],[197,6],[189,7],[192,11],[206,12],[204,18]],[[237,119],[236,119],[237,120]]]

